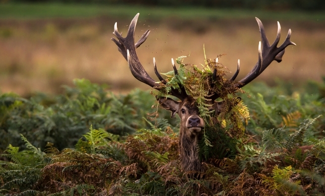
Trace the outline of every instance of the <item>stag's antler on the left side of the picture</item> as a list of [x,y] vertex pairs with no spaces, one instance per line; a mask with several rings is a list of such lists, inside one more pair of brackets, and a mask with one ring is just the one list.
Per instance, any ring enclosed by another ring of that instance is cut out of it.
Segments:
[[[162,82],[161,84],[157,83],[154,79],[152,79],[149,76],[149,74],[146,72],[146,70],[141,65],[138,55],[135,51],[135,49],[140,47],[140,45],[146,41],[146,39],[148,38],[149,33],[150,33],[150,31],[147,30],[142,35],[140,40],[136,44],[134,44],[134,31],[135,31],[135,26],[138,21],[138,17],[139,17],[139,13],[137,15],[135,15],[135,17],[131,21],[129,30],[127,31],[127,35],[125,38],[123,38],[121,33],[118,32],[117,23],[115,23],[113,34],[115,35],[117,40],[114,38],[111,38],[111,40],[117,45],[118,51],[120,51],[121,54],[124,56],[124,58],[127,60],[132,75],[139,81],[159,90],[163,85],[166,84],[166,81],[162,78],[162,76],[159,74],[159,72],[157,70],[155,58],[154,58],[154,70],[155,70],[155,73],[156,73],[158,79]],[[177,75],[177,69],[173,62],[172,62],[172,64],[173,64],[173,68],[174,68],[174,73],[175,73],[175,75]],[[186,92],[183,87],[180,87],[180,89],[181,89],[181,92],[178,92],[178,90],[176,90],[176,89],[172,89],[170,95],[183,100],[184,98],[186,98]]]

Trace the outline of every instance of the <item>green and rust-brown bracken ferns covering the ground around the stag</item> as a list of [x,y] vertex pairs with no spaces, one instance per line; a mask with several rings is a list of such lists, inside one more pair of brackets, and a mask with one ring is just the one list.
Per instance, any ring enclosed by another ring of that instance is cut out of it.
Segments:
[[157,109],[148,92],[74,84],[55,98],[0,96],[0,195],[325,194],[324,83],[245,87],[251,137],[220,136],[227,153],[196,178],[179,169],[177,119],[143,118]]

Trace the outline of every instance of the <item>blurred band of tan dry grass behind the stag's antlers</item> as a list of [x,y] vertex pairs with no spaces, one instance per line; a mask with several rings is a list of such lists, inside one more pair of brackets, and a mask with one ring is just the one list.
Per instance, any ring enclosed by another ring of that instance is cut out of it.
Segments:
[[[26,95],[35,91],[58,93],[61,85],[74,78],[107,83],[115,92],[135,87],[149,89],[133,78],[127,62],[110,38],[114,22],[124,34],[129,20],[112,18],[37,19],[0,21],[0,89]],[[276,35],[276,21],[263,21],[270,42]],[[281,22],[283,41],[291,28],[296,47],[286,49],[281,63],[273,62],[258,80],[273,83],[274,78],[302,84],[325,75],[325,23]],[[203,44],[208,58],[219,59],[235,71],[241,61],[241,74],[247,74],[258,58],[260,35],[251,19],[180,20],[159,22],[139,19],[136,38],[151,30],[148,40],[137,49],[145,69],[154,76],[152,58],[161,72],[171,70],[170,58],[190,54],[187,63],[204,62]],[[281,41],[280,41],[281,42]]]

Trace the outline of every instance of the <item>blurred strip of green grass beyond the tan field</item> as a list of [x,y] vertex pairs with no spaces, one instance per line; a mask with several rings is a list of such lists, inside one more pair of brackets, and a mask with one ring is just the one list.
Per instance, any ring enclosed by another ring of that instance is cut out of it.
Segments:
[[[204,7],[146,7],[141,5],[61,4],[61,3],[0,3],[1,19],[37,19],[71,17],[133,17],[142,13],[143,19],[158,19],[176,16],[181,19],[245,19],[258,16],[260,19],[292,21],[325,21],[325,14],[304,11],[265,11],[241,9],[208,9]],[[150,15],[150,16],[149,16]]]

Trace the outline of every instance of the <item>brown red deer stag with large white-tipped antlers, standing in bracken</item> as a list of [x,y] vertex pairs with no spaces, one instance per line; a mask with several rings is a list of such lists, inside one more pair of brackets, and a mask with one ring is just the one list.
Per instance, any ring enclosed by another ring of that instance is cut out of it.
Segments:
[[[162,78],[159,74],[156,66],[156,61],[154,58],[154,70],[161,81],[161,83],[156,82],[152,79],[149,74],[145,71],[143,66],[141,65],[139,58],[136,53],[136,49],[143,44],[147,37],[149,36],[150,31],[147,30],[140,40],[135,43],[134,42],[134,31],[135,26],[139,17],[139,13],[133,18],[131,24],[129,26],[127,36],[123,38],[121,34],[117,31],[117,23],[114,26],[113,34],[116,36],[117,40],[112,38],[111,40],[117,45],[118,50],[122,53],[124,58],[127,60],[129,64],[129,68],[133,76],[139,81],[151,86],[152,88],[160,90],[165,84],[166,80]],[[270,64],[273,60],[277,62],[281,62],[282,56],[284,54],[284,49],[289,45],[295,45],[290,41],[291,30],[287,34],[287,37],[284,43],[277,47],[277,44],[280,40],[280,31],[281,27],[278,24],[277,35],[274,43],[270,46],[269,41],[266,37],[264,27],[262,22],[256,18],[257,23],[260,27],[261,39],[262,42],[259,43],[259,60],[254,66],[253,70],[248,73],[243,79],[241,79],[237,83],[237,87],[241,88],[253,81],[256,77],[258,77]],[[262,45],[262,46],[261,46]],[[177,69],[172,60],[172,65],[174,69],[175,75],[177,75]],[[214,70],[214,76],[216,75],[217,70]],[[232,76],[230,80],[235,80],[239,73],[239,60],[237,71]],[[213,77],[214,78],[214,77]],[[170,91],[170,95],[176,98],[179,98],[180,101],[175,101],[171,98],[162,98],[159,99],[161,106],[167,110],[172,112],[171,117],[174,116],[175,113],[178,113],[181,124],[179,130],[179,149],[180,149],[180,159],[181,159],[181,167],[183,171],[201,171],[201,162],[199,160],[197,145],[198,145],[198,135],[202,132],[202,129],[205,126],[205,122],[203,118],[199,115],[197,104],[195,103],[194,98],[186,94],[186,91],[183,87],[180,86],[181,91],[176,89],[172,89]],[[215,110],[215,116],[218,115],[219,107],[222,105],[219,102],[215,101],[220,96],[216,93],[209,93],[209,98],[212,99],[211,103],[213,109]],[[215,120],[214,120],[215,121]],[[216,122],[216,121],[215,121]]]

